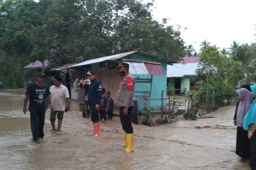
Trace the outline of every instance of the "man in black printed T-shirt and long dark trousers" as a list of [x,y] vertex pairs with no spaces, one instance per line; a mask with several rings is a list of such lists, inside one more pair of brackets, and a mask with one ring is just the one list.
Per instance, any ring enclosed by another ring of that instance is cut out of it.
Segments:
[[26,91],[24,99],[23,113],[27,112],[27,103],[29,99],[28,110],[30,112],[30,123],[33,140],[35,143],[40,143],[39,138],[44,137],[44,119],[46,110],[46,100],[53,109],[50,98],[50,91],[48,87],[43,84],[46,78],[45,73],[39,72],[37,75],[37,82],[30,84]]

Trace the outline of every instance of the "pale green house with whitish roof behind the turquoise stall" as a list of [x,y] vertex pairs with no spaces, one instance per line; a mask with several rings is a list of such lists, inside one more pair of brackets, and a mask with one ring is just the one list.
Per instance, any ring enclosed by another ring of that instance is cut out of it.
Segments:
[[167,65],[167,84],[175,89],[175,94],[188,95],[191,90],[197,90],[196,70],[199,57],[183,57],[181,62]]

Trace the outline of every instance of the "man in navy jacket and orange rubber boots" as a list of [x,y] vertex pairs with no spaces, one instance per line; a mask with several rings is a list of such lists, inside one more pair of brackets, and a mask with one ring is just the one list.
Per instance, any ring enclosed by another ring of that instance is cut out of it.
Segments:
[[102,96],[102,84],[101,82],[95,78],[94,71],[88,71],[87,74],[88,79],[91,81],[91,84],[88,89],[88,104],[91,110],[91,121],[93,121],[94,126],[94,137],[99,137],[100,130],[100,119],[99,119],[99,106],[101,102]]

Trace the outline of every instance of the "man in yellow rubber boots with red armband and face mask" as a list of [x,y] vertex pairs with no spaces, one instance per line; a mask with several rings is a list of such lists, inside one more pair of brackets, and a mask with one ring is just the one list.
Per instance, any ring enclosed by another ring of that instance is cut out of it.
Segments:
[[134,78],[129,73],[129,64],[120,63],[119,74],[123,76],[117,94],[117,106],[120,108],[120,120],[124,130],[124,143],[126,152],[133,151],[133,128],[131,126],[131,112],[133,111],[132,95],[134,91]]

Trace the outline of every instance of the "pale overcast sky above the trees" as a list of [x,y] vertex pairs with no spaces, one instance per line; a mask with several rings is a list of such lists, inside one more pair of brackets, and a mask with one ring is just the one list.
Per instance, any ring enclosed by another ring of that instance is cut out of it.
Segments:
[[152,14],[159,22],[170,19],[167,25],[175,28],[179,24],[186,45],[199,52],[205,39],[221,49],[233,40],[255,42],[255,7],[256,0],[155,0]]

